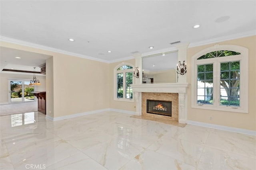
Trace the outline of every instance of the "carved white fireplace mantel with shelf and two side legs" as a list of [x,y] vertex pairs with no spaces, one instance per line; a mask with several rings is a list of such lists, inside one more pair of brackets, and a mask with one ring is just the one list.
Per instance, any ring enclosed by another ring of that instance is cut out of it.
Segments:
[[141,116],[144,114],[144,110],[142,110],[142,93],[145,93],[147,95],[148,93],[154,93],[156,96],[159,96],[159,93],[176,93],[178,94],[178,123],[187,123],[187,83],[132,84],[131,86],[134,92],[136,102],[136,115]]

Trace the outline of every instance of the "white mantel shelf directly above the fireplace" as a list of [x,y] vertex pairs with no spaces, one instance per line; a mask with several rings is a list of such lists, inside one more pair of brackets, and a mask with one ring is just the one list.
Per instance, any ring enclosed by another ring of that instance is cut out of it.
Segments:
[[186,93],[188,83],[131,84],[133,92]]

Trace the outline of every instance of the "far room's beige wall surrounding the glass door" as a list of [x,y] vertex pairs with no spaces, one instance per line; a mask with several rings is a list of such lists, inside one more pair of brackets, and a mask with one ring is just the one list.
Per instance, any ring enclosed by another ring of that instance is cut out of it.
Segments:
[[[13,73],[0,73],[0,104],[7,104],[8,103],[8,78],[13,78],[13,79],[26,79],[26,80],[32,80],[34,74],[17,74],[15,72]],[[41,85],[36,86],[36,91],[45,91],[46,90],[46,76],[40,76],[36,74],[36,78],[40,80]]]

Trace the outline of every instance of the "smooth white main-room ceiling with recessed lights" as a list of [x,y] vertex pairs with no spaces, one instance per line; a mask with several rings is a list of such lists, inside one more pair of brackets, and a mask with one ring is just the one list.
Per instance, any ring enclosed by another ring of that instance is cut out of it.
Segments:
[[[216,21],[223,16],[230,18]],[[194,29],[196,24],[200,27]],[[171,48],[175,41],[197,43],[253,30],[254,0],[1,0],[0,6],[2,39],[26,41],[107,63],[129,59],[134,53]],[[75,41],[68,41],[70,38]],[[1,68],[3,61],[14,57],[2,48],[0,54]],[[8,64],[17,64],[12,62]],[[20,64],[30,62],[20,60]]]

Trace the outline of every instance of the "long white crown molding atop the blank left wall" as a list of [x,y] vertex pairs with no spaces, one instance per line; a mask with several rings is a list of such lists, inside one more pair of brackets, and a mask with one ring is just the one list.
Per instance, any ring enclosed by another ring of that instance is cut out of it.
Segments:
[[107,60],[97,59],[95,57],[90,57],[88,55],[82,55],[82,54],[73,53],[73,52],[70,52],[70,51],[55,49],[55,48],[52,48],[52,47],[47,47],[47,46],[44,46],[44,45],[38,45],[38,44],[30,43],[30,42],[27,42],[27,41],[21,41],[21,40],[18,40],[18,39],[12,39],[12,38],[9,38],[9,37],[0,36],[0,40],[4,41],[4,42],[8,42],[8,43],[24,45],[24,46],[27,46],[27,47],[43,49],[43,50],[52,51],[52,52],[61,53],[61,54],[66,54],[66,55],[72,55],[72,56],[80,57],[80,58],[84,58],[84,59],[100,61],[102,63],[109,63],[109,61],[107,61]]

